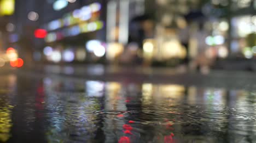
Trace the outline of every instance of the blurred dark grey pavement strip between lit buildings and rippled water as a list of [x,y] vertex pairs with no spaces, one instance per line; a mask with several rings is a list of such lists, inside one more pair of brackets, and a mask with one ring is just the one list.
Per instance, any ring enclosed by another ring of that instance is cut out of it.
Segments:
[[212,70],[209,74],[186,71],[179,67],[113,67],[103,65],[45,65],[33,71],[57,77],[127,83],[182,84],[228,89],[256,89],[256,74],[246,71]]

